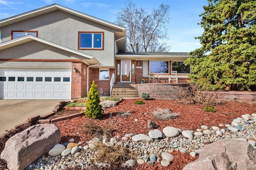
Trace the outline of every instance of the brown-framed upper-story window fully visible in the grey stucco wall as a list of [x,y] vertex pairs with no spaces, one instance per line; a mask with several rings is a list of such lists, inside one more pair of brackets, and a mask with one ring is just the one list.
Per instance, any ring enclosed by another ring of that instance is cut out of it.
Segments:
[[104,48],[104,32],[78,32],[78,49]]

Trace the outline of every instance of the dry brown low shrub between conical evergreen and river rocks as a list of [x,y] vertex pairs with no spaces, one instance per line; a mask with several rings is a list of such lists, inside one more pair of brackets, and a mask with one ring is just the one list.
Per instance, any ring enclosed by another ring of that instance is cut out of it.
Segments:
[[115,130],[115,128],[113,128],[112,126],[104,125],[103,127],[100,127],[91,121],[88,121],[84,125],[84,128],[85,130],[83,132],[87,134],[92,134],[92,138],[101,138],[102,135],[104,135],[106,138],[109,139],[112,137],[112,132]]

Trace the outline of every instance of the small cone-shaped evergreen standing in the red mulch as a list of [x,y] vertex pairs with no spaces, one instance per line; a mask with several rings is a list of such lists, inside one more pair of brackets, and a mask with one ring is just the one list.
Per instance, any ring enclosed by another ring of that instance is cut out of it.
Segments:
[[100,105],[100,95],[97,91],[95,81],[92,81],[91,88],[88,93],[85,115],[91,119],[100,119],[104,111]]

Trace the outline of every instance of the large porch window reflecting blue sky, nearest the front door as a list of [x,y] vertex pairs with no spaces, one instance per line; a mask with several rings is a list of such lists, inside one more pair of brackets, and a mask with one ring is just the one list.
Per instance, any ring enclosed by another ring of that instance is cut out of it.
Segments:
[[170,74],[169,61],[149,61],[149,70],[156,74]]

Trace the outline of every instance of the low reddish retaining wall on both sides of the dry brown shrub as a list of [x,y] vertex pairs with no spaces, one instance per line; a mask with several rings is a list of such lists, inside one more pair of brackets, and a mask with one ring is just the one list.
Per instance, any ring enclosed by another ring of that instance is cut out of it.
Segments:
[[[145,83],[138,84],[138,94],[148,93],[151,99],[179,99],[178,89],[188,87],[186,83]],[[255,91],[216,91],[217,99],[256,103]]]

